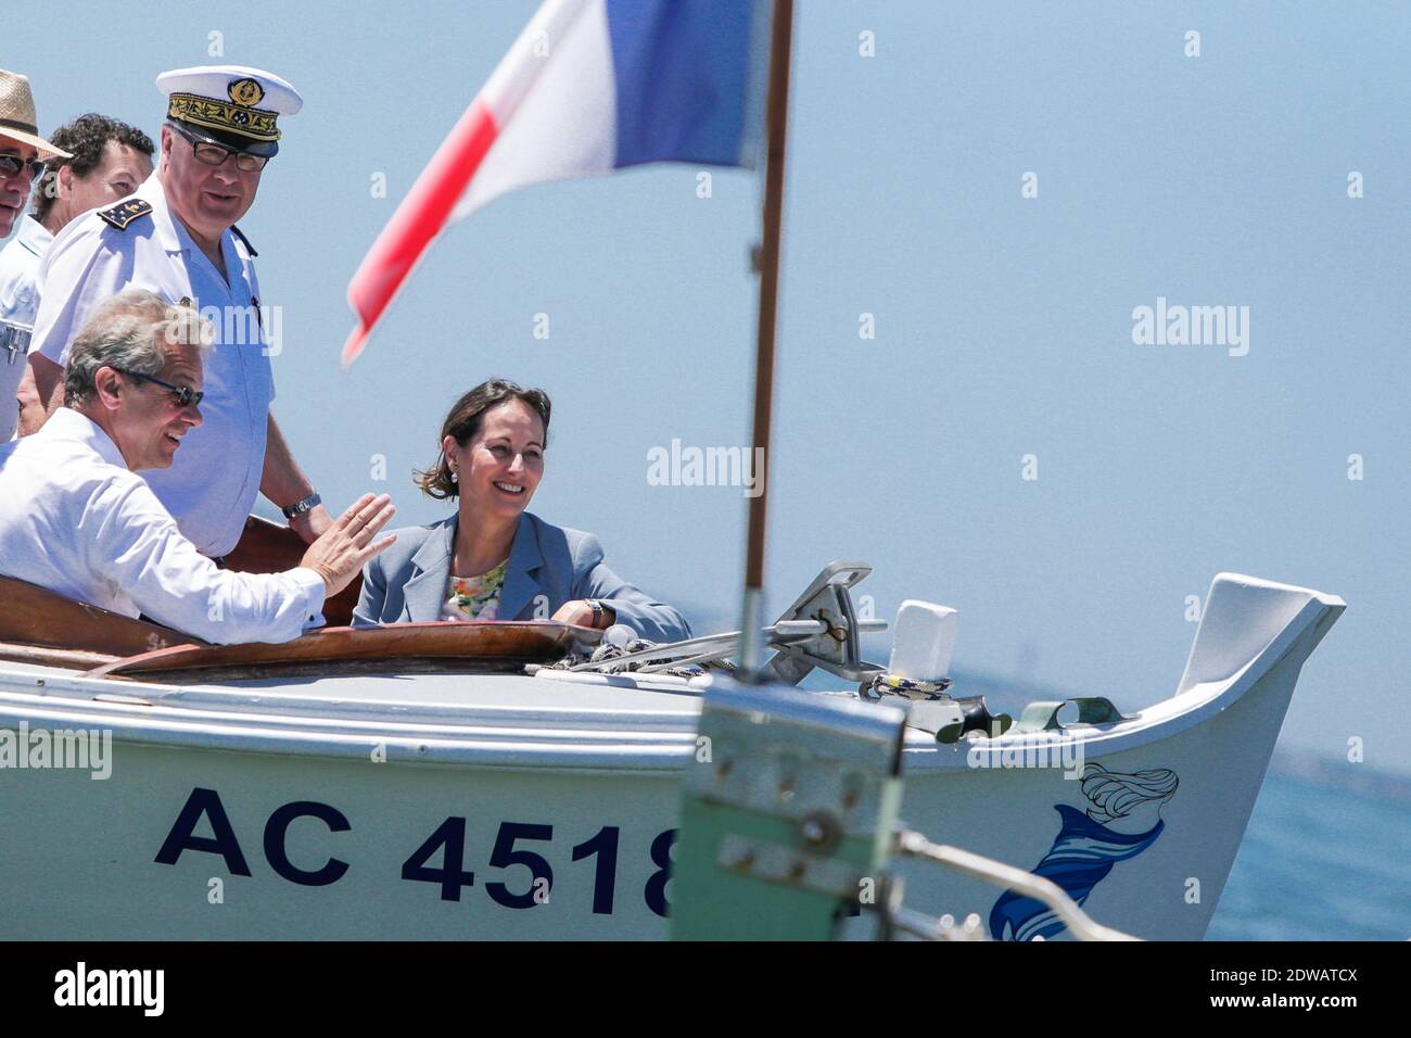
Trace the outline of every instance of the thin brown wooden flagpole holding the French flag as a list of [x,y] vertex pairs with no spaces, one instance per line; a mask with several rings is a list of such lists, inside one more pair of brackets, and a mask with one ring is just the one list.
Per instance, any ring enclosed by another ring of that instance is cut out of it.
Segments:
[[765,518],[769,500],[769,426],[775,390],[775,318],[779,309],[779,237],[785,209],[785,136],[789,121],[789,58],[793,38],[793,0],[775,0],[769,40],[769,99],[765,112],[768,160],[765,167],[763,237],[759,251],[759,338],[755,349],[755,431],[751,460],[762,459],[755,479],[758,494],[749,499],[749,534],[745,554],[745,595],[741,620],[739,676],[759,681],[765,593]]

